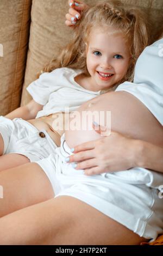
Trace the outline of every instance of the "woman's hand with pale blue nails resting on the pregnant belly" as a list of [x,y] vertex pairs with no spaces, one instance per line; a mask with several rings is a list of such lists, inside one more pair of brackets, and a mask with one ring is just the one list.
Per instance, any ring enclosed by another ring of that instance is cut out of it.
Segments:
[[116,172],[135,167],[137,140],[111,132],[105,127],[93,125],[101,138],[78,145],[70,161],[75,169],[84,169],[86,175]]

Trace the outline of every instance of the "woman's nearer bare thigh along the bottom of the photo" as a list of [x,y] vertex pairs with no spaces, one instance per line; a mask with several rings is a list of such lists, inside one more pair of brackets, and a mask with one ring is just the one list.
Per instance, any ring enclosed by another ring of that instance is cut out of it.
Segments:
[[142,241],[146,239],[69,196],[0,218],[1,245],[139,245]]

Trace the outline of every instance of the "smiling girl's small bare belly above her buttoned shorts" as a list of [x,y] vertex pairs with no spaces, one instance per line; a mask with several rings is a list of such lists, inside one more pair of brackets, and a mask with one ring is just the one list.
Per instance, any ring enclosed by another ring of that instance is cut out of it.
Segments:
[[[67,114],[68,115],[68,114]],[[38,130],[46,130],[57,146],[60,146],[60,137],[65,132],[65,114],[55,113],[47,117],[28,120]]]

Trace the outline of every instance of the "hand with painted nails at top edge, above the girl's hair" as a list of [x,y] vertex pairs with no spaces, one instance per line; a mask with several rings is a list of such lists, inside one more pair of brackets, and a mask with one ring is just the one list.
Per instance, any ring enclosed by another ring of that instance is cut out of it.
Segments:
[[77,23],[78,20],[80,20],[81,12],[85,10],[88,5],[77,0],[68,0],[68,4],[70,6],[70,9],[65,16],[65,24],[66,26],[73,26]]

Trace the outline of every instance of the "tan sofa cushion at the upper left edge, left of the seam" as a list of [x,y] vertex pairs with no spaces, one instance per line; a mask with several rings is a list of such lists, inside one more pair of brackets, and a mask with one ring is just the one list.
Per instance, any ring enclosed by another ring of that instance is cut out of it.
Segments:
[[32,0],[0,3],[0,115],[20,106],[28,49]]

